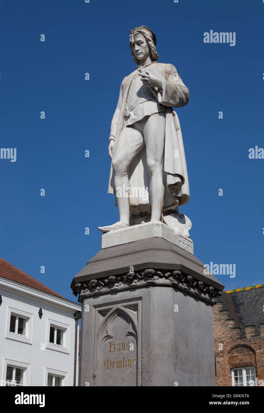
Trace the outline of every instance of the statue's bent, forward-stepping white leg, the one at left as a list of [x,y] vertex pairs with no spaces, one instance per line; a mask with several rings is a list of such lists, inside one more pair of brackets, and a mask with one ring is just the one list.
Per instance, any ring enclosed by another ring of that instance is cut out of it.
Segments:
[[[129,197],[130,188],[128,179],[128,167],[132,159],[139,153],[144,146],[143,134],[136,127],[127,126],[121,131],[115,147],[115,154],[112,160],[114,171],[114,187],[120,222],[129,224]],[[125,191],[124,191],[125,189]]]

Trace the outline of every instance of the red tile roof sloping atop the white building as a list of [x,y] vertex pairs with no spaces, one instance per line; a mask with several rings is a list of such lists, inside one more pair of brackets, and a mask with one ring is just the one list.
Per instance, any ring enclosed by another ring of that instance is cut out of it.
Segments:
[[48,294],[55,295],[56,297],[62,297],[62,295],[57,294],[57,292],[51,290],[46,285],[42,284],[35,278],[24,273],[23,271],[16,268],[14,265],[0,258],[0,277],[8,278],[9,280],[19,282],[20,284],[28,285],[28,287],[35,288],[36,290],[47,292]]

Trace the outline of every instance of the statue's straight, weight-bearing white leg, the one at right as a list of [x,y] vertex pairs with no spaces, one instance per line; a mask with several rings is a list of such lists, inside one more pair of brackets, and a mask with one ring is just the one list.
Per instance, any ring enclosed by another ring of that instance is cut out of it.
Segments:
[[143,129],[143,135],[150,175],[151,221],[160,221],[165,190],[162,175],[165,140],[165,114],[163,112],[149,116]]

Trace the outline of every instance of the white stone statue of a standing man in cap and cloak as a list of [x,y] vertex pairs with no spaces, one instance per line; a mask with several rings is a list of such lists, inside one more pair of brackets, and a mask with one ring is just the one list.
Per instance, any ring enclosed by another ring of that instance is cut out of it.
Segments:
[[115,195],[120,221],[99,227],[103,233],[128,227],[130,214],[160,221],[190,197],[181,128],[172,109],[188,103],[189,91],[172,64],[157,62],[156,36],[149,28],[130,31],[130,50],[138,66],[121,84],[108,147],[108,193]]

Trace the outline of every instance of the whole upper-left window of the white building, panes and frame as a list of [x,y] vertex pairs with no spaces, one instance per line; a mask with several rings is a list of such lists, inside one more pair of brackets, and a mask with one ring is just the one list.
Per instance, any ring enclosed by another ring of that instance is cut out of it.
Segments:
[[5,337],[16,341],[32,344],[33,314],[8,308],[7,330]]

